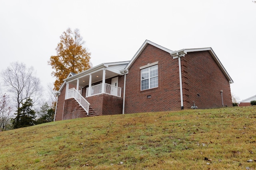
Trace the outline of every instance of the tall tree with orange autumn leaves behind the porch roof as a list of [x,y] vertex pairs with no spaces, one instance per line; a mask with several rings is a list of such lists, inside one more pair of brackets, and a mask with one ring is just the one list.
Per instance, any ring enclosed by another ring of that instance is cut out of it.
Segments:
[[55,49],[57,55],[51,56],[48,61],[54,69],[52,76],[56,77],[54,90],[59,90],[63,79],[67,78],[70,72],[78,73],[91,68],[91,53],[83,45],[84,41],[79,29],[73,32],[68,28],[60,36],[60,43]]

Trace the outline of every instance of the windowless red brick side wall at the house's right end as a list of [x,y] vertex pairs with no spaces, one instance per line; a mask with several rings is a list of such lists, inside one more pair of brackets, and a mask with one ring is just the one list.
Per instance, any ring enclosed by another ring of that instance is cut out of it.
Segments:
[[[208,51],[192,52],[181,58],[184,108],[232,106],[230,84]],[[200,97],[198,96],[200,95]]]

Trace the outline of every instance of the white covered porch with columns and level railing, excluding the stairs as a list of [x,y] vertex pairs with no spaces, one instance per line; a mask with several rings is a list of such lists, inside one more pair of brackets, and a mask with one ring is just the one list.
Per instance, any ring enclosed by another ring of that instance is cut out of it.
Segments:
[[[78,74],[70,73],[68,78],[64,79],[66,82],[66,94],[70,89],[75,88],[81,95],[86,91],[86,95],[83,96],[85,98],[102,93],[121,97],[122,88],[118,84],[118,77],[124,75],[120,70],[127,63],[104,63]],[[66,95],[65,99],[68,98],[70,96]]]

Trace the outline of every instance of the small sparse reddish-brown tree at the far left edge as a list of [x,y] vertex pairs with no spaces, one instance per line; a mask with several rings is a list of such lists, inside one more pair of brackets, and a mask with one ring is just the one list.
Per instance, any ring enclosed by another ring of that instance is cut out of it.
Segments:
[[13,116],[12,107],[10,107],[9,97],[4,94],[0,98],[0,129],[8,130],[11,128],[11,118]]

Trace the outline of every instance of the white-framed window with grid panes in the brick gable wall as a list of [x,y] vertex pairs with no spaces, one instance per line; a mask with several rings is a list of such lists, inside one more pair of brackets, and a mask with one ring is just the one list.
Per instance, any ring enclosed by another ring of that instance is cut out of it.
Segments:
[[158,87],[158,65],[140,70],[141,90]]

